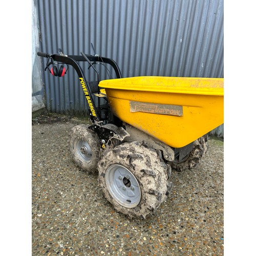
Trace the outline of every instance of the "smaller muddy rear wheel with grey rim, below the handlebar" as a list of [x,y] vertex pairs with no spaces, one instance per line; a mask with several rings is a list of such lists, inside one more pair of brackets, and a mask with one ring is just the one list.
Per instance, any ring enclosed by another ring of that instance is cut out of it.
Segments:
[[70,133],[70,152],[78,167],[87,173],[97,173],[100,160],[100,141],[98,135],[81,124]]

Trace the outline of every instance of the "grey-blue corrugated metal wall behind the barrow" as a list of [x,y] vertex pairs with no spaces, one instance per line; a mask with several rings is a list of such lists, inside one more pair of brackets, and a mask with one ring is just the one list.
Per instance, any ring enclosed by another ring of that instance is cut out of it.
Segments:
[[[223,0],[38,0],[37,9],[43,52],[93,54],[92,42],[122,77],[223,77]],[[96,80],[87,67],[88,80]],[[63,78],[47,72],[45,84],[48,110],[86,111],[72,68]]]

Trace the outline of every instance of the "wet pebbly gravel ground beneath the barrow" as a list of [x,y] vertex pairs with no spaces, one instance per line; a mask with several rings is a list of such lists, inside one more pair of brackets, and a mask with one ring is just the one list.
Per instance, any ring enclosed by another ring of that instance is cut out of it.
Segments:
[[[83,121],[87,122],[87,121]],[[81,120],[32,122],[32,255],[223,255],[223,141],[193,170],[172,172],[174,188],[146,220],[129,220],[103,198],[97,176],[68,149]]]

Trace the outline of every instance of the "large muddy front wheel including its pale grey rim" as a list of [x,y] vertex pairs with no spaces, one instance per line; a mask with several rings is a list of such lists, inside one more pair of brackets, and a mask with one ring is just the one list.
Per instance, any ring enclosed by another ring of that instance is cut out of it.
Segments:
[[98,171],[105,198],[130,219],[145,219],[165,200],[167,166],[143,142],[123,143],[105,151]]

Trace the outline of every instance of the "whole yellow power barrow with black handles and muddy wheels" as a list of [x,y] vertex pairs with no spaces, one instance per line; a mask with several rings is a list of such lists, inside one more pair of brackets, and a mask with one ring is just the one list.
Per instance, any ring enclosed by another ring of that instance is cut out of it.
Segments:
[[[66,66],[75,69],[92,122],[70,133],[75,163],[98,173],[103,195],[117,211],[146,218],[170,194],[171,170],[196,166],[208,150],[207,133],[224,122],[223,78],[122,78],[110,58],[59,51],[37,54],[48,58],[45,70],[54,76],[65,75]],[[87,81],[78,64],[84,61],[97,81]],[[117,78],[100,81],[99,64],[109,74],[111,66]]]

